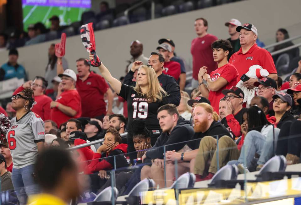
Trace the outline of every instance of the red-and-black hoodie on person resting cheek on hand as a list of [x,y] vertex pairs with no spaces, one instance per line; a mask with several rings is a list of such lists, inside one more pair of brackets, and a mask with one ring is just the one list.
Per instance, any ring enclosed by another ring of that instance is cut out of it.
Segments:
[[[129,166],[130,162],[124,155],[127,153],[127,149],[128,149],[127,144],[119,144],[110,152],[106,152],[102,154],[94,153],[93,160],[87,166],[87,169],[85,170],[84,173],[90,174],[100,170],[110,170],[114,168],[114,164],[116,164],[116,168]],[[114,157],[112,156],[116,156],[115,163],[114,163]],[[106,159],[101,159],[101,158],[106,158]]]

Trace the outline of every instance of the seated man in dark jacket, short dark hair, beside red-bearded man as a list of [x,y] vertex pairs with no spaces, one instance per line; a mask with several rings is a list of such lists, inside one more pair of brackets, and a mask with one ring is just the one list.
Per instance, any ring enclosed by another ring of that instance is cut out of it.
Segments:
[[[141,170],[141,179],[152,178],[160,188],[164,187],[164,145],[165,150],[179,151],[185,146],[185,141],[191,139],[194,130],[189,121],[180,117],[176,105],[162,105],[158,111],[158,119],[162,134],[157,139],[153,149],[142,157],[143,162],[152,162],[151,167],[145,165]],[[182,142],[182,143],[181,143]],[[172,179],[167,179],[171,181]],[[169,184],[168,184],[169,185]]]

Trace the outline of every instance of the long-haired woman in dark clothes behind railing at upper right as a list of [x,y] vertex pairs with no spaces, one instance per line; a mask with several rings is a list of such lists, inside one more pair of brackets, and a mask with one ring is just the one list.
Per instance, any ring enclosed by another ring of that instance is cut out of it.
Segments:
[[[288,31],[286,29],[280,28],[277,30],[276,32],[276,42],[281,42],[283,40],[289,39],[289,35],[288,35]],[[289,46],[293,46],[293,42],[292,41],[288,41],[286,43],[282,43],[280,45],[274,46],[273,52],[274,51],[279,51],[283,48],[287,48]],[[294,57],[299,55],[299,48],[294,48],[291,49],[289,51],[285,51],[284,53],[287,53],[290,56],[290,59],[293,59]],[[274,62],[276,63],[278,57],[283,54],[283,53],[279,53],[275,56],[273,56]]]

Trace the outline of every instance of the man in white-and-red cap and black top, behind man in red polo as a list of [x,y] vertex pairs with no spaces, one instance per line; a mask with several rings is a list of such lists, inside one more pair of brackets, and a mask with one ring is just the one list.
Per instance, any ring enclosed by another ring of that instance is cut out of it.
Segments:
[[233,47],[233,51],[228,54],[229,61],[232,54],[237,52],[241,47],[239,42],[239,32],[236,31],[236,27],[241,26],[241,23],[237,19],[231,19],[230,21],[225,23],[225,26],[228,27],[228,33],[231,36],[227,40],[230,41],[231,46]]

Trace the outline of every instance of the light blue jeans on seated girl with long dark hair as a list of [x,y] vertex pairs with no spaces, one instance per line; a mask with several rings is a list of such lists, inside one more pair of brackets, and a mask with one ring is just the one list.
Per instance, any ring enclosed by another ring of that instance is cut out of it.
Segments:
[[[279,128],[274,128],[274,131],[271,129],[266,136],[256,130],[248,132],[244,138],[244,145],[241,148],[238,160],[229,161],[228,165],[243,164],[249,170],[254,170],[256,169],[256,164],[265,164],[267,160],[274,156],[274,146],[277,142],[279,132]],[[255,153],[260,155],[257,163],[254,163]],[[246,161],[244,161],[244,158],[246,158]]]

